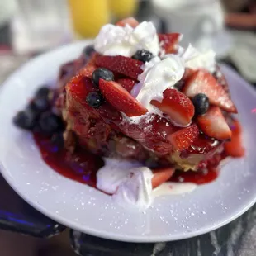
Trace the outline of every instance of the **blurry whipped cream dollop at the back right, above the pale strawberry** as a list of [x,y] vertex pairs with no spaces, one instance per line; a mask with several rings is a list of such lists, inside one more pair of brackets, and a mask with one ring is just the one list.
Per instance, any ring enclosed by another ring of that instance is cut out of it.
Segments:
[[180,50],[179,55],[184,60],[185,67],[189,69],[206,69],[213,73],[216,69],[216,53],[213,50],[200,52],[192,45],[188,45],[186,50]]

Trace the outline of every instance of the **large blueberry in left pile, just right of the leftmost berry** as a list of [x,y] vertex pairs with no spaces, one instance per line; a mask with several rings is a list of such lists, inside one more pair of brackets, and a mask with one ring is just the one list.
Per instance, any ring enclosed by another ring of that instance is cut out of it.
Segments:
[[38,131],[44,135],[52,135],[55,132],[64,129],[63,122],[59,116],[50,111],[46,111],[40,115],[38,121]]

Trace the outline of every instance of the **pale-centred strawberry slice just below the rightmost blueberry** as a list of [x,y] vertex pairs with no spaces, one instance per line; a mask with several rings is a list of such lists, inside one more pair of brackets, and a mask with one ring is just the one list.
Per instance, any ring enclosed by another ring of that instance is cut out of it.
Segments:
[[231,130],[222,115],[220,107],[211,106],[203,116],[197,116],[200,129],[209,137],[217,140],[231,138]]

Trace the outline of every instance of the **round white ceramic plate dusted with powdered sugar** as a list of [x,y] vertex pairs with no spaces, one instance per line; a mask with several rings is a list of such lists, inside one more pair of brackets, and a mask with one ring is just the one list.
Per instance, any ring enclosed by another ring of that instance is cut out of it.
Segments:
[[[32,59],[13,73],[0,94],[0,163],[7,182],[46,216],[75,230],[107,239],[158,242],[185,239],[234,220],[256,198],[256,92],[227,67],[223,71],[244,126],[244,159],[232,159],[216,182],[185,195],[159,197],[146,212],[127,211],[102,192],[59,176],[41,159],[31,134],[12,125],[12,116],[59,65],[76,58],[78,42]],[[255,111],[254,111],[255,108]]]

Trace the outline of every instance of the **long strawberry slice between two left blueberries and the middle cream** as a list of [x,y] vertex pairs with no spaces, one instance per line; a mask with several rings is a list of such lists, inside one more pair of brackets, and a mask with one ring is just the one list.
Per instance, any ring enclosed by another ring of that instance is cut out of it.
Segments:
[[126,116],[141,116],[147,112],[147,109],[122,88],[121,84],[100,79],[99,88],[107,101]]

